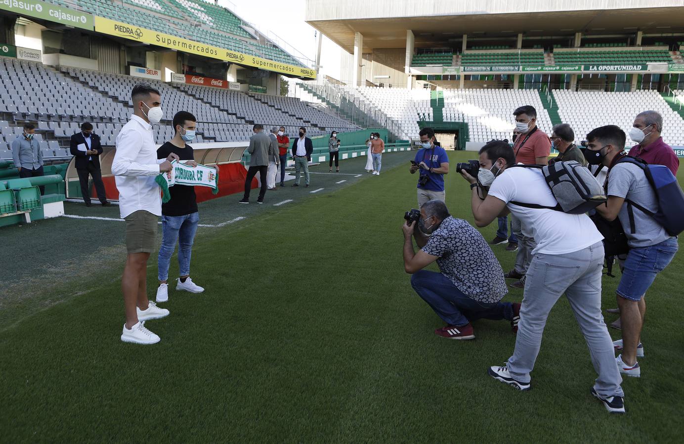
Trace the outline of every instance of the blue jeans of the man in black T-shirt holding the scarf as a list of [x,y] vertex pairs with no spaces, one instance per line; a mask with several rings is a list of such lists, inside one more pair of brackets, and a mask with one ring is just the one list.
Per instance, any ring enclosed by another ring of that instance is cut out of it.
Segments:
[[166,281],[169,277],[169,265],[171,255],[176,249],[178,242],[178,264],[181,276],[190,274],[190,256],[192,255],[192,242],[195,240],[195,232],[200,222],[200,213],[194,212],[185,216],[162,216],[161,217],[161,247],[159,248],[159,280]]

